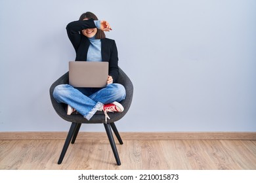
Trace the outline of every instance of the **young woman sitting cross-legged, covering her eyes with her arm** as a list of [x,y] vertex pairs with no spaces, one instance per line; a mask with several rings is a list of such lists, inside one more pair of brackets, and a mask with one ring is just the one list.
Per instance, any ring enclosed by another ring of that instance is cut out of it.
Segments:
[[[58,103],[66,103],[67,114],[77,110],[90,120],[97,110],[122,112],[119,103],[125,99],[125,88],[115,83],[119,74],[116,42],[107,39],[104,31],[112,28],[106,21],[100,21],[92,12],[85,12],[78,21],[70,22],[66,27],[68,38],[72,42],[76,61],[108,61],[109,76],[106,88],[74,88],[61,84],[54,88],[53,97]],[[89,78],[88,78],[89,79]]]

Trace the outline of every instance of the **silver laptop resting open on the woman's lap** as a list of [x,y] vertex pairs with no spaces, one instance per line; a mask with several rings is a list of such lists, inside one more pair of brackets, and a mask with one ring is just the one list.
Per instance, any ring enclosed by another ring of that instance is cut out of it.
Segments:
[[69,82],[80,88],[104,88],[108,80],[108,61],[70,61]]

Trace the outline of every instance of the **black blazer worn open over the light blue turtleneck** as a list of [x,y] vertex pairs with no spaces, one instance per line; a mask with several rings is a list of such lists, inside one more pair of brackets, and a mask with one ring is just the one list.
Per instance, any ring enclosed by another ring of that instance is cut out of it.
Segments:
[[[90,46],[90,41],[85,37],[81,30],[95,28],[95,23],[93,19],[90,20],[78,20],[70,22],[67,25],[66,30],[68,33],[68,38],[72,42],[72,45],[75,48],[76,61],[86,61],[87,52]],[[118,69],[118,54],[116,42],[113,39],[101,39],[101,56],[102,61],[108,61],[109,69],[108,74],[112,76],[114,82],[116,82],[119,69]]]

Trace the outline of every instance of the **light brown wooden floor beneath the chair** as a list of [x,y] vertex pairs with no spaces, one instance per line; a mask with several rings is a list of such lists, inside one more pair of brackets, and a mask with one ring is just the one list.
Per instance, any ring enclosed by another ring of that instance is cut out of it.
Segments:
[[117,144],[121,166],[108,140],[70,144],[57,164],[64,140],[0,141],[0,169],[256,169],[256,141],[123,141]]

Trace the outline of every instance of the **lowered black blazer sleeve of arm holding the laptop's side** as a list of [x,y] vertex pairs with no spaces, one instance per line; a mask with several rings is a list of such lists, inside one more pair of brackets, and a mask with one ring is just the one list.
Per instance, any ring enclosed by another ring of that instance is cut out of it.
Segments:
[[114,40],[112,42],[109,69],[110,69],[109,75],[112,76],[114,82],[116,82],[119,75],[119,67],[118,67],[117,47],[116,47],[116,42]]

